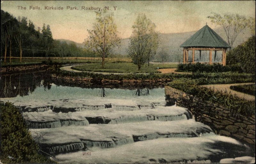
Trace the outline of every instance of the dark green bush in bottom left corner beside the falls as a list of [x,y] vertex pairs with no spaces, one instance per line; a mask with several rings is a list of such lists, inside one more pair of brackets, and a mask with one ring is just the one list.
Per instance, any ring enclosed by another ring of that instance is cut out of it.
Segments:
[[53,163],[40,153],[19,109],[9,102],[0,102],[0,107],[1,162]]

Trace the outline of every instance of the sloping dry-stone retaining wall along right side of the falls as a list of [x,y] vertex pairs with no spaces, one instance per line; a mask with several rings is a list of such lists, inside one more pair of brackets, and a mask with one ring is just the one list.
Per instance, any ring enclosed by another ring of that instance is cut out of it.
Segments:
[[224,107],[168,86],[165,87],[165,95],[168,104],[176,102],[178,106],[188,108],[196,121],[210,126],[217,134],[255,146],[255,115],[237,115],[235,118]]

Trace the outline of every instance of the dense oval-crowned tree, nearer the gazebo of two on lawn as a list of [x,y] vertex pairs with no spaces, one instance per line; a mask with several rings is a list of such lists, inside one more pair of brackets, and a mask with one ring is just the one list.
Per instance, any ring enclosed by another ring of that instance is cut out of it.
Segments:
[[156,25],[146,18],[145,14],[138,15],[132,28],[128,54],[140,70],[142,65],[149,63],[152,56],[156,54],[158,35],[155,32]]

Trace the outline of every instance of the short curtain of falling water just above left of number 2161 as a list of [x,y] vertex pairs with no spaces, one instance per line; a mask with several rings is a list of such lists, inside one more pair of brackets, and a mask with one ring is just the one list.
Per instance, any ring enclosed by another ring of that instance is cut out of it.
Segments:
[[82,150],[83,148],[84,148],[84,144],[82,142],[47,147],[47,149],[51,154],[67,153],[74,150]]

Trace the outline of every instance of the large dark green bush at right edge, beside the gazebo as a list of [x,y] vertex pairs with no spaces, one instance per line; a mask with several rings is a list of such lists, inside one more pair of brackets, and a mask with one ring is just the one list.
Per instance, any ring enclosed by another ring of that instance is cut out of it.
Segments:
[[255,35],[227,53],[227,64],[236,63],[244,72],[255,74]]

